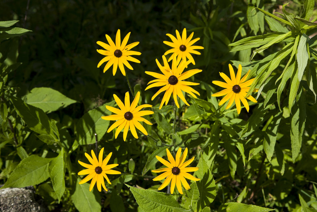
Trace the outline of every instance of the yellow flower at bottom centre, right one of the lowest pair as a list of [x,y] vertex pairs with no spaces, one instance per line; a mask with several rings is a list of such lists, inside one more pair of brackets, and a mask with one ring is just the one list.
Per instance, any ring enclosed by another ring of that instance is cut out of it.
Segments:
[[152,172],[158,173],[158,172],[164,172],[163,174],[160,174],[159,176],[155,177],[153,181],[163,180],[165,181],[163,184],[158,188],[158,190],[162,190],[165,188],[170,182],[171,182],[171,194],[174,192],[175,185],[177,187],[177,190],[180,194],[183,194],[182,191],[182,184],[186,190],[190,189],[191,187],[188,185],[185,178],[189,180],[198,181],[199,178],[193,177],[191,174],[188,174],[187,172],[194,172],[199,169],[199,167],[186,167],[188,166],[195,157],[192,157],[190,160],[185,161],[187,156],[187,147],[185,148],[185,151],[183,152],[182,156],[181,154],[182,148],[179,147],[176,153],[175,160],[173,156],[171,155],[170,151],[166,149],[167,158],[170,162],[164,160],[163,158],[156,155],[156,158],[163,163],[167,168],[160,168],[152,170]]

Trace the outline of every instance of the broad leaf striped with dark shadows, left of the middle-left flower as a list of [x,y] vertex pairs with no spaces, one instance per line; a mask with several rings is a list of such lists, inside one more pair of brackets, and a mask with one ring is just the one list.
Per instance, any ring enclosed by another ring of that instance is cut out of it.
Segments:
[[92,144],[96,142],[95,133],[99,139],[107,132],[109,127],[109,120],[101,119],[101,116],[111,115],[107,110],[106,105],[114,106],[115,101],[106,103],[103,106],[97,107],[85,113],[76,125],[76,140],[72,146],[74,151],[78,145]]

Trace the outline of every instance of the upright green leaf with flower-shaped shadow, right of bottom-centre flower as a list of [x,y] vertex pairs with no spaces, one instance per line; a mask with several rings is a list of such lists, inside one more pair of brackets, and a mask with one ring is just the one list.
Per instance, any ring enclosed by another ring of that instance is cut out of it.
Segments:
[[197,211],[199,211],[200,209],[209,206],[210,203],[215,200],[217,191],[215,179],[202,154],[200,154],[197,167],[199,167],[199,169],[194,173],[194,176],[200,178],[199,181],[196,181],[200,194],[200,199],[197,202]]

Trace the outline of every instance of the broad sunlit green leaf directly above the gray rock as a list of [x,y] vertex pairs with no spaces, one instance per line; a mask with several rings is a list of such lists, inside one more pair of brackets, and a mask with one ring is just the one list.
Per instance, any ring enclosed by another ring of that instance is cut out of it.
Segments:
[[38,185],[49,178],[51,159],[31,155],[23,159],[10,174],[2,188],[23,188]]

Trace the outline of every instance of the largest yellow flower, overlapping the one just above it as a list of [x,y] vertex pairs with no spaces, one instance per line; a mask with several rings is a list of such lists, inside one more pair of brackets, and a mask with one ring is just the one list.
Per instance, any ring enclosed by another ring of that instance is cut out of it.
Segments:
[[[174,57],[176,57],[176,56],[174,56]],[[182,60],[181,63],[178,65],[176,59],[173,59],[172,68],[170,68],[170,65],[168,65],[167,60],[166,60],[164,55],[162,56],[162,58],[164,61],[164,66],[162,66],[159,63],[158,59],[156,59],[156,63],[159,66],[159,69],[161,70],[161,72],[163,74],[159,74],[159,73],[155,73],[155,72],[145,72],[146,74],[149,74],[149,75],[157,78],[157,79],[150,81],[148,84],[150,84],[150,83],[153,83],[153,84],[147,86],[145,90],[152,88],[152,87],[158,87],[158,86],[165,85],[164,87],[160,88],[159,91],[156,92],[152,96],[152,100],[153,100],[157,95],[159,95],[159,93],[166,91],[164,96],[163,96],[162,102],[159,106],[159,109],[162,108],[164,102],[165,102],[165,105],[167,105],[168,100],[170,99],[170,96],[172,93],[173,93],[175,104],[178,108],[179,108],[179,104],[177,101],[177,96],[180,99],[182,99],[186,105],[189,106],[182,91],[187,92],[191,96],[197,98],[194,93],[196,93],[199,96],[200,96],[200,94],[188,85],[199,85],[199,83],[187,82],[187,81],[182,81],[182,80],[187,79],[187,78],[191,77],[192,75],[201,72],[202,70],[192,69],[192,70],[189,70],[189,71],[183,73],[185,66],[187,66],[190,63],[189,61],[186,62],[186,61]]]

